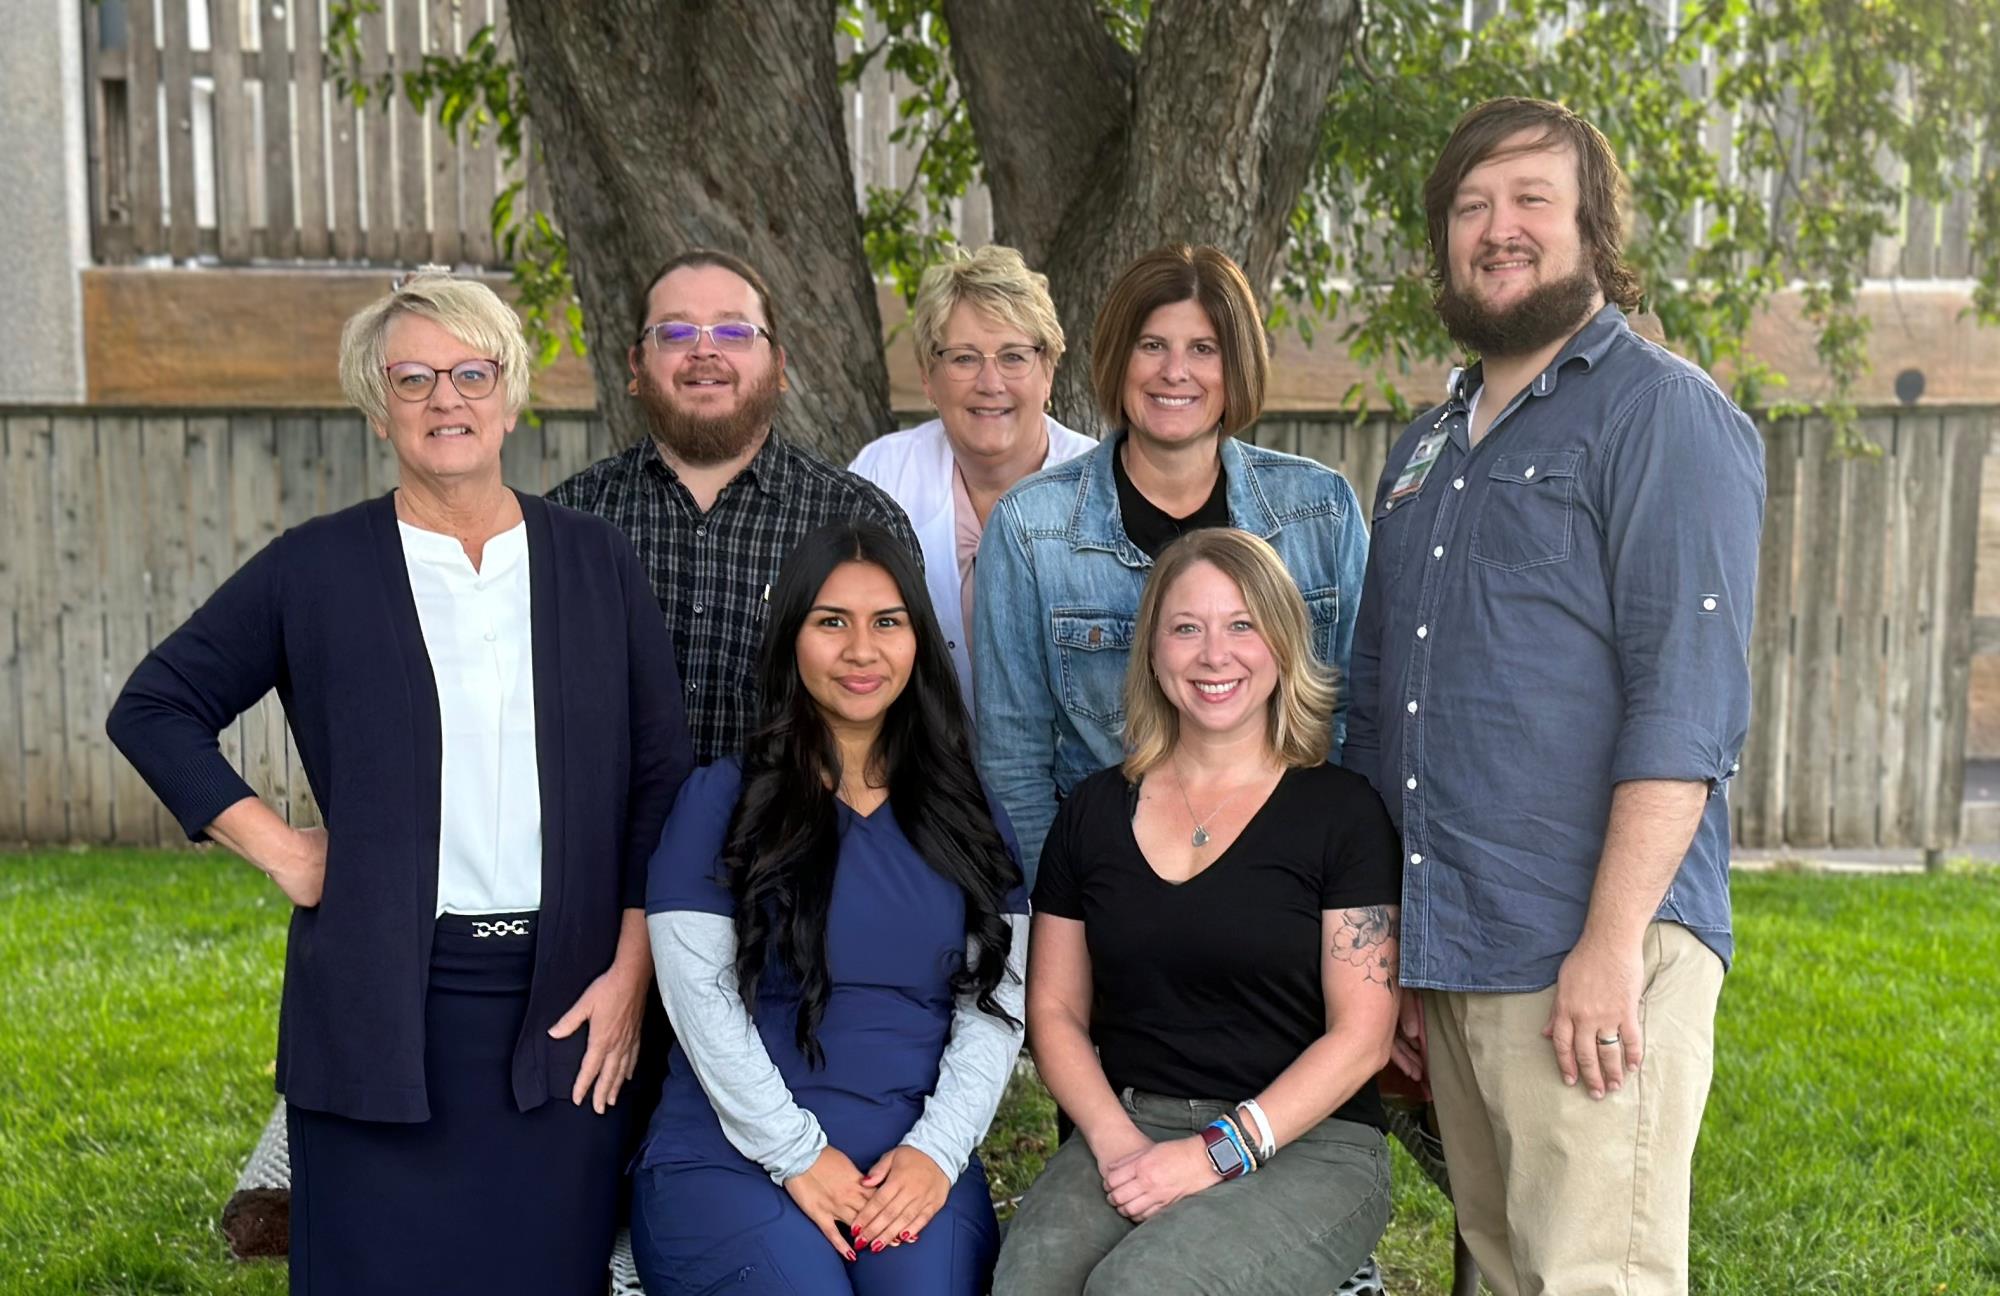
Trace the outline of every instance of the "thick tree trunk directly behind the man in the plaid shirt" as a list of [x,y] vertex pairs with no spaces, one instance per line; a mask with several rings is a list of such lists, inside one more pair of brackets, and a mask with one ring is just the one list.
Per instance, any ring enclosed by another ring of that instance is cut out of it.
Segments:
[[890,428],[830,6],[508,0],[514,48],[570,244],[612,436],[646,434],[626,394],[636,294],[666,258],[722,248],[772,294],[792,394],[786,436],[846,458]]

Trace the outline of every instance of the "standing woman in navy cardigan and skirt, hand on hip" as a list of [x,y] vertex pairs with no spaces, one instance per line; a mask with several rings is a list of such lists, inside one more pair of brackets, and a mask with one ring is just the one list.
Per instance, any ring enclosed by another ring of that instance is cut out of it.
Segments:
[[[500,480],[520,320],[422,270],[340,338],[390,494],[296,526],[132,672],[110,736],[292,904],[292,1290],[604,1292],[650,986],[646,860],[692,764],[608,522]],[[324,828],[216,736],[278,690]]]

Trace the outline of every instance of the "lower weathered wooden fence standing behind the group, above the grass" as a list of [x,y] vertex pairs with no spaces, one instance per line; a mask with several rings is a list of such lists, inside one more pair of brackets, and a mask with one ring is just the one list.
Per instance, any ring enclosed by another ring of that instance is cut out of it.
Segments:
[[[2000,410],[1866,418],[1882,460],[1832,460],[1820,420],[1766,428],[1770,502],[1732,786],[1746,846],[1922,846],[1958,836],[1980,472]],[[1260,444],[1344,470],[1366,496],[1396,428],[1264,420]],[[282,528],[394,484],[352,414],[0,418],[0,842],[174,842],[104,738],[148,646]],[[610,452],[602,422],[526,422],[506,476],[548,490]],[[276,698],[224,752],[316,822]]]

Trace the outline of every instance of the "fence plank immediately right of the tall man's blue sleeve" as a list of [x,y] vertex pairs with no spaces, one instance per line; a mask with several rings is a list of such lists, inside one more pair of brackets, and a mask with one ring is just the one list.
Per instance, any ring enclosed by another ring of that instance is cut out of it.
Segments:
[[1750,630],[1750,734],[1730,794],[1744,846],[1784,844],[1786,714],[1792,704],[1792,584],[1796,576],[1800,436],[1796,418],[1764,428],[1764,538]]

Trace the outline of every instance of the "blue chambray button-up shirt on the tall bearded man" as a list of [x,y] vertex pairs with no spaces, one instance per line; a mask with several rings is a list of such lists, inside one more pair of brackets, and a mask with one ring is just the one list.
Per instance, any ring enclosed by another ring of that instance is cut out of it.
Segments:
[[[1552,986],[1612,788],[1638,778],[1712,788],[1658,916],[1726,964],[1764,440],[1616,306],[1474,448],[1476,384],[1390,452],[1354,626],[1342,760],[1402,830],[1402,980]],[[1432,432],[1436,464],[1396,494]]]

